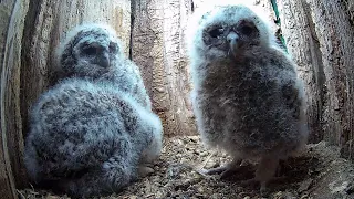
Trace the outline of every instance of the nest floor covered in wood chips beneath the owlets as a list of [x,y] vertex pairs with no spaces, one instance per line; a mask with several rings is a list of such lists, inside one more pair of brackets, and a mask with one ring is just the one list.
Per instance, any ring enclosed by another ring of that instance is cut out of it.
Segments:
[[[281,163],[281,181],[269,185],[273,199],[354,199],[354,167],[340,158],[337,148],[325,143],[309,145],[306,151]],[[241,186],[240,180],[252,178],[254,167],[247,165],[235,176],[220,180],[218,175],[204,176],[201,168],[211,168],[229,161],[217,151],[207,150],[198,136],[165,139],[163,154],[155,164],[155,172],[131,185],[119,193],[105,198],[210,198],[257,199],[258,185]],[[25,189],[21,198],[67,198],[45,190]]]

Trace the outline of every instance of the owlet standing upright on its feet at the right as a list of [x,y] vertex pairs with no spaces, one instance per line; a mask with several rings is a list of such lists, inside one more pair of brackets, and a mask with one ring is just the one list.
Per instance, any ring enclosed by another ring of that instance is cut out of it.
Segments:
[[280,159],[306,143],[304,92],[295,64],[260,17],[242,4],[216,6],[188,28],[191,101],[202,142],[225,149],[232,163],[257,159],[261,192]]

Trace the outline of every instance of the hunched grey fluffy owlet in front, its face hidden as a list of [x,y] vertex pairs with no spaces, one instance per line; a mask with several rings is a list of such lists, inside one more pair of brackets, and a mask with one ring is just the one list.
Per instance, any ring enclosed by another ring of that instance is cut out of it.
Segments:
[[30,117],[30,178],[72,197],[119,191],[162,148],[159,118],[112,84],[65,80],[39,98]]

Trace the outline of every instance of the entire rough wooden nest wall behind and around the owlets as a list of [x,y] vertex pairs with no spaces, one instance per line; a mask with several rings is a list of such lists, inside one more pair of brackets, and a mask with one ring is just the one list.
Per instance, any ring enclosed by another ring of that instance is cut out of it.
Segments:
[[[354,2],[254,1],[274,24],[298,63],[308,96],[310,142],[326,140],[353,159]],[[272,3],[271,3],[272,2]],[[28,109],[48,88],[55,46],[83,22],[104,22],[121,36],[164,122],[165,136],[195,135],[189,101],[185,30],[201,0],[2,0],[0,1],[0,196],[27,186],[23,140]]]

